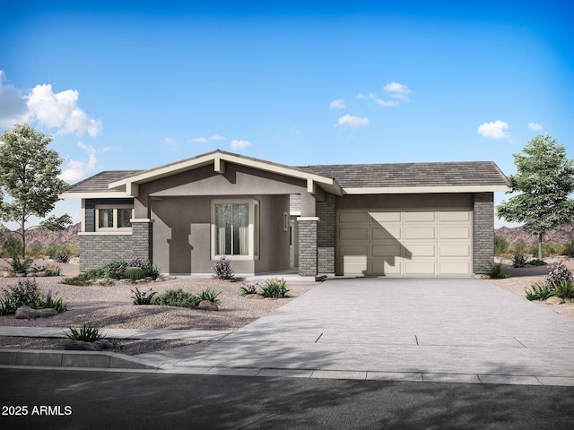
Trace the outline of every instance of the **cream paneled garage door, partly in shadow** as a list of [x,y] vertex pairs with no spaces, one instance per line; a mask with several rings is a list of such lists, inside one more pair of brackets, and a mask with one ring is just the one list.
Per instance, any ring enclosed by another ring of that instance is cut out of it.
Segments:
[[472,211],[337,211],[341,275],[470,276]]

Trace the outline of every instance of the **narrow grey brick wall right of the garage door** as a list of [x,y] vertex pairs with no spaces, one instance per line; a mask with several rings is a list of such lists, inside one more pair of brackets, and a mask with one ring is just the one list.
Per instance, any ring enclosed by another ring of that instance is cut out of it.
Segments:
[[494,259],[494,194],[474,193],[474,273],[484,273]]

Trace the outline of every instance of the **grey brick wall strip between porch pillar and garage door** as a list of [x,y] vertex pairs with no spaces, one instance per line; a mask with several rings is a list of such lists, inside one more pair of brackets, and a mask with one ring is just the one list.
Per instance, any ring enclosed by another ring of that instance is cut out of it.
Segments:
[[335,195],[317,202],[317,273],[335,273]]

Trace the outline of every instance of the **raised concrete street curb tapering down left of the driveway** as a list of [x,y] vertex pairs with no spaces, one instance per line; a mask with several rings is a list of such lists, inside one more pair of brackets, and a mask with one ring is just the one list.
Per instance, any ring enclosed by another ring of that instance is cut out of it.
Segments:
[[157,369],[137,357],[106,351],[0,350],[2,366],[95,367],[102,369]]

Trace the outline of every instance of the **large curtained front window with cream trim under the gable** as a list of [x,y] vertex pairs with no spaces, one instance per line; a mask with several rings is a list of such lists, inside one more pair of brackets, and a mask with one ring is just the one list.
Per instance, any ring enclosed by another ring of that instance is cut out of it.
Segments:
[[213,257],[257,257],[257,211],[256,201],[213,202]]

